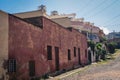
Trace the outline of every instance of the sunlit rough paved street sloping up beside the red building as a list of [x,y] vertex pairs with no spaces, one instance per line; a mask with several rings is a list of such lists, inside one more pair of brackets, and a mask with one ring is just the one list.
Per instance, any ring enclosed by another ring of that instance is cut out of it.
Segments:
[[107,64],[93,64],[81,72],[62,77],[61,80],[120,80],[120,55]]

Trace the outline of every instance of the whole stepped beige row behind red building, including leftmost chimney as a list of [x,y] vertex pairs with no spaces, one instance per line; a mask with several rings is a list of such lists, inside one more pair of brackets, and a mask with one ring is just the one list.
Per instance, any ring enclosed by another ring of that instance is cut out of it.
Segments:
[[95,26],[94,23],[85,22],[84,18],[76,18],[75,13],[71,14],[59,14],[57,11],[52,11],[51,15],[46,13],[46,6],[41,5],[39,10],[21,12],[14,14],[20,18],[45,16],[48,19],[62,25],[65,28],[72,27],[79,30],[86,35],[88,40],[92,40],[95,43],[100,42],[101,37],[104,37],[103,30]]

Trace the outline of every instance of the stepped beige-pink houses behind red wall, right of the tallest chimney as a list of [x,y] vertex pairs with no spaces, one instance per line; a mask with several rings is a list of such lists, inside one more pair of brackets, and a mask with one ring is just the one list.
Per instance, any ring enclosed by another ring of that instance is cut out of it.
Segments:
[[54,22],[63,25],[64,27],[73,27],[85,34],[88,40],[93,40],[95,43],[100,42],[100,38],[104,37],[103,30],[96,27],[93,23],[85,22],[84,18],[75,18],[75,14],[55,15],[51,17]]

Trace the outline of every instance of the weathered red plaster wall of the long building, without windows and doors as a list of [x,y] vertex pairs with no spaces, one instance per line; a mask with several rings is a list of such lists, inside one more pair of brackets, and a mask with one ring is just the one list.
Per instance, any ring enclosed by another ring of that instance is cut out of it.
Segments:
[[[81,50],[81,62],[85,64],[86,37],[76,30],[69,31],[47,18],[42,18],[43,29],[9,16],[9,58],[17,60],[19,79],[29,77],[28,62],[35,60],[36,76],[55,72],[55,50],[59,47],[60,70],[78,65],[78,48]],[[52,46],[52,60],[47,60],[47,45]],[[77,56],[74,57],[74,47]],[[71,60],[68,61],[68,49]]]

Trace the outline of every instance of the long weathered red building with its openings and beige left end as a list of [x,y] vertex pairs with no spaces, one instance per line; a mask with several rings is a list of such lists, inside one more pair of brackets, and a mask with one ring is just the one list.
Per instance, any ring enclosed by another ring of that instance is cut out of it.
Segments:
[[87,38],[77,30],[43,16],[22,19],[0,11],[0,77],[29,80],[85,65],[87,57]]

